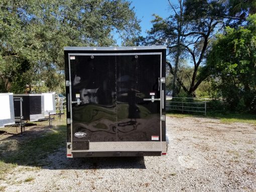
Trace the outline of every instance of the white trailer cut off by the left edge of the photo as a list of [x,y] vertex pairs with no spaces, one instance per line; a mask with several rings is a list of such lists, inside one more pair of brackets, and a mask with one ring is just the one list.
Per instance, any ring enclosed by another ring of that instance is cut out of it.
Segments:
[[0,93],[0,128],[15,124],[13,93]]

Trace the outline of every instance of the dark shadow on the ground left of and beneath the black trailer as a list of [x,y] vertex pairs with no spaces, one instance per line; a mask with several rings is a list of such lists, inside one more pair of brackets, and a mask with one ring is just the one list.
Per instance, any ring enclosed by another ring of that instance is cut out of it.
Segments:
[[[66,157],[66,126],[37,126],[0,139],[0,160],[45,169],[146,168],[144,157]],[[1,169],[1,167],[0,167]]]

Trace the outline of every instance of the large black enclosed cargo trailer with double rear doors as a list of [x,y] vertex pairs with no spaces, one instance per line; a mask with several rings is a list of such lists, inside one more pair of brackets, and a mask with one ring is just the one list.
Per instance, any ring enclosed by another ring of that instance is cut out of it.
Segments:
[[167,152],[166,46],[65,47],[67,157]]

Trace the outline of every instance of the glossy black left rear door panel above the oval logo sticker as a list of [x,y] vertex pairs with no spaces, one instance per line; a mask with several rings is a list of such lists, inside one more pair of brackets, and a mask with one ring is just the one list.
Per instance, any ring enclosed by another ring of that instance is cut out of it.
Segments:
[[[73,141],[116,141],[114,56],[74,56],[70,60]],[[83,137],[75,133],[85,133]]]

